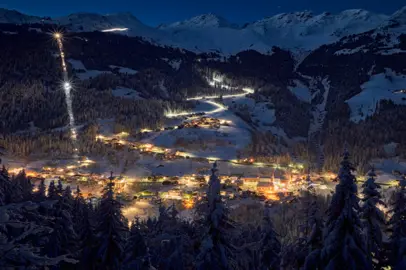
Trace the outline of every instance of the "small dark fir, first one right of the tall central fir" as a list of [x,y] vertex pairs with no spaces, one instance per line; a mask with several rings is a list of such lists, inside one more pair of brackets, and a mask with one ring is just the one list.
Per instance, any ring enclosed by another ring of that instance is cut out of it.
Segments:
[[265,207],[264,216],[262,218],[261,232],[262,236],[260,240],[260,269],[279,269],[281,243],[279,242],[274,231],[268,207]]

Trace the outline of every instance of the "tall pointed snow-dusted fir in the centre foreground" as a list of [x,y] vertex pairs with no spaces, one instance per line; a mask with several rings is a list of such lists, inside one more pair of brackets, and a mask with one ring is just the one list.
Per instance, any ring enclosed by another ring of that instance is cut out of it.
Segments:
[[224,270],[230,269],[230,255],[235,248],[227,241],[227,235],[234,229],[228,218],[220,196],[220,180],[217,177],[217,163],[213,164],[212,174],[207,189],[206,231],[197,256],[197,268]]

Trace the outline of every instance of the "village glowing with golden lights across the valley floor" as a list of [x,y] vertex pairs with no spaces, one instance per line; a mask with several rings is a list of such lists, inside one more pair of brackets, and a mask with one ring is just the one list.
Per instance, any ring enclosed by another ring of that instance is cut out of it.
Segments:
[[[165,153],[163,149],[154,146],[139,148],[142,151],[155,151]],[[49,185],[51,181],[61,182],[64,186],[74,189],[80,186],[83,196],[92,202],[100,199],[103,187],[109,181],[110,173],[94,173],[92,166],[96,161],[87,157],[79,158],[76,164],[54,164],[39,169],[9,168],[11,175],[17,175],[22,170],[30,177],[34,190],[41,181]],[[250,176],[243,174],[221,174],[219,179],[222,184],[221,195],[226,200],[238,198],[254,198],[265,203],[290,201],[299,195],[300,190],[312,185],[315,189],[328,189],[335,175],[324,176],[312,173],[310,181],[303,166],[290,164],[286,169],[280,167],[271,169],[268,177]],[[124,204],[134,201],[147,201],[149,203],[181,202],[183,209],[191,209],[204,197],[209,181],[209,170],[200,170],[200,173],[178,176],[150,175],[137,177],[129,175],[115,175],[115,193]],[[125,209],[125,207],[124,207]]]

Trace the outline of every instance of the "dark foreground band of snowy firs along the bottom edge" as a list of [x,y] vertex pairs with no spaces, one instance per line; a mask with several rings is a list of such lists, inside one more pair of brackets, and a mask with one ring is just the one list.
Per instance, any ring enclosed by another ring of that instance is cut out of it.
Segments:
[[[122,214],[111,176],[99,203],[86,202],[59,181],[42,181],[33,192],[24,171],[0,171],[0,267],[2,269],[404,269],[406,179],[390,205],[381,199],[374,170],[362,186],[362,201],[348,152],[339,183],[323,215],[310,177],[296,212],[265,207],[256,226],[232,219],[216,164],[207,195],[193,221],[174,205],[157,218]],[[389,209],[382,212],[382,207]],[[254,218],[255,216],[253,216]],[[274,221],[272,220],[274,218]],[[299,222],[295,222],[299,220]],[[283,224],[282,224],[283,223]],[[276,227],[274,226],[276,224]],[[275,231],[279,228],[279,234]],[[388,228],[388,239],[383,230]],[[283,241],[281,241],[283,239]]]

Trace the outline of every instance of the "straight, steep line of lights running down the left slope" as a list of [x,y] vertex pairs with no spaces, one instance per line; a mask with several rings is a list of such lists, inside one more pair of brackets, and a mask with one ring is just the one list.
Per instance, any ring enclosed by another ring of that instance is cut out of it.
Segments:
[[72,139],[73,143],[73,151],[77,152],[77,132],[76,132],[76,127],[75,127],[75,116],[73,114],[73,109],[72,109],[72,83],[69,81],[69,76],[68,76],[68,70],[66,68],[66,61],[65,61],[65,53],[63,50],[63,35],[62,33],[56,32],[53,34],[53,37],[55,38],[57,44],[58,44],[58,49],[59,49],[59,54],[61,56],[61,65],[62,65],[62,89],[65,92],[65,101],[66,101],[66,107],[68,109],[68,115],[69,115],[69,130],[70,130],[70,137]]

